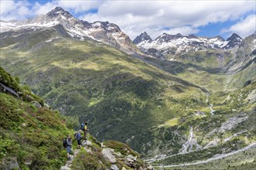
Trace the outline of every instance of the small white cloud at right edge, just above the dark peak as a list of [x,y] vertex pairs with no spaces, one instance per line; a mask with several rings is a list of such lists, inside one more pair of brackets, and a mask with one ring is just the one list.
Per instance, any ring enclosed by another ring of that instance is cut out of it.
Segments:
[[244,20],[237,22],[235,25],[230,26],[229,29],[223,29],[222,32],[236,32],[241,37],[251,35],[256,31],[256,15],[248,15]]

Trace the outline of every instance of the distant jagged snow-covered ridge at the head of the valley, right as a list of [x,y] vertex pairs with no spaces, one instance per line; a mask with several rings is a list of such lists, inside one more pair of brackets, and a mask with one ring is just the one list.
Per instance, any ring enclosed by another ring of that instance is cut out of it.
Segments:
[[203,51],[206,49],[232,49],[239,46],[242,40],[235,33],[227,40],[221,36],[207,38],[195,35],[182,36],[180,33],[176,35],[163,33],[152,40],[147,35],[147,32],[144,32],[137,36],[133,42],[137,44],[143,53],[160,59],[166,59],[168,55],[175,56],[181,53]]

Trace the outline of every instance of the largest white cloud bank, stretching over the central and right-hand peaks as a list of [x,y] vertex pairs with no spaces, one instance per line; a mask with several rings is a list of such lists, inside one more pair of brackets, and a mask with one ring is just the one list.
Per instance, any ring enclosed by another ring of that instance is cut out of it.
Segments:
[[134,39],[144,31],[152,38],[162,32],[196,33],[199,26],[239,19],[255,11],[255,5],[253,1],[109,1],[99,5],[98,11],[80,19],[116,23]]

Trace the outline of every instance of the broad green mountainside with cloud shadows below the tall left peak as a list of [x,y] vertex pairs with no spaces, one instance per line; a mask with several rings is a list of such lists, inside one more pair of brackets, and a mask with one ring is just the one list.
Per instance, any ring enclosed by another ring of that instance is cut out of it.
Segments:
[[54,108],[90,120],[99,140],[130,139],[129,145],[142,153],[157,147],[154,126],[206,107],[202,90],[176,76],[99,42],[67,39],[54,29],[9,36],[2,43],[1,62]]

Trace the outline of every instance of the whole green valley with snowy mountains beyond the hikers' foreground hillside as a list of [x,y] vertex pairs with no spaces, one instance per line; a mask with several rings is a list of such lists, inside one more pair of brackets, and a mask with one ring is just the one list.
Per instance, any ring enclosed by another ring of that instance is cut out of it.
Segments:
[[0,66],[62,115],[89,121],[99,141],[124,142],[155,168],[239,167],[233,156],[255,164],[255,32],[144,32],[133,43],[112,23],[68,14],[1,21]]

